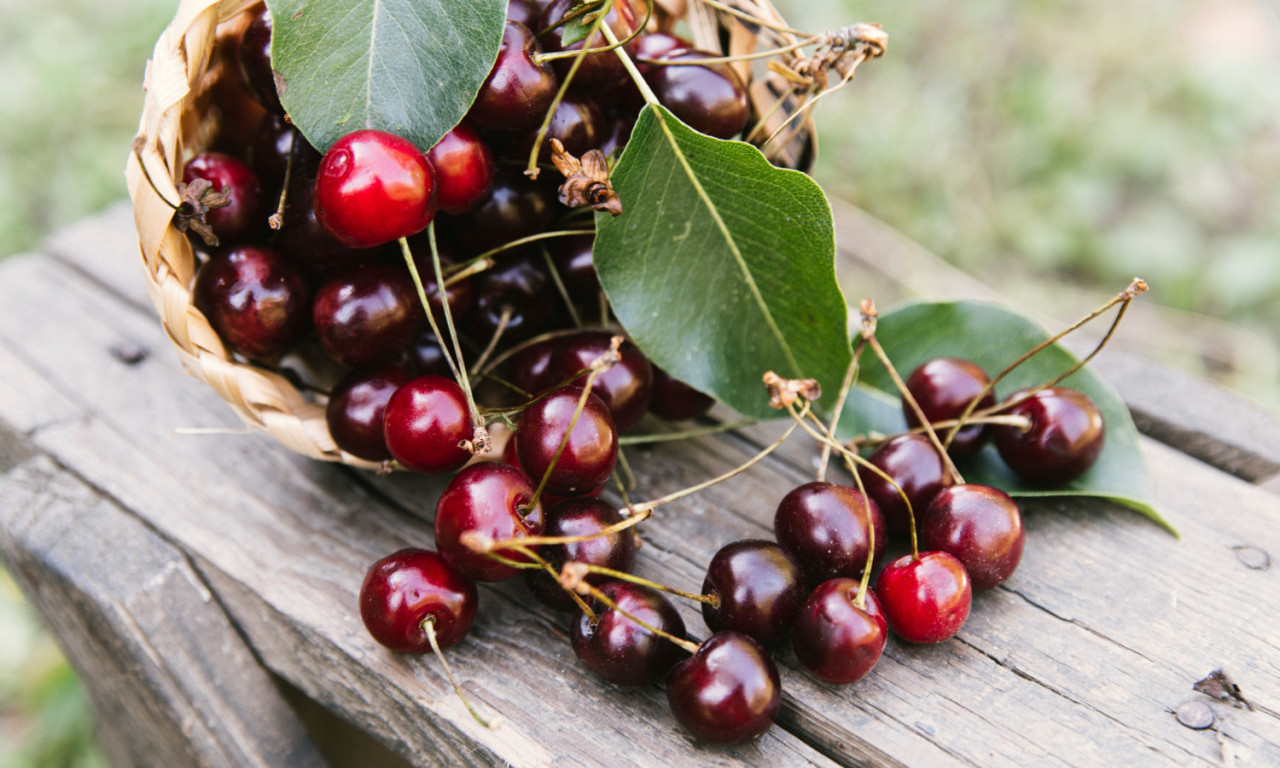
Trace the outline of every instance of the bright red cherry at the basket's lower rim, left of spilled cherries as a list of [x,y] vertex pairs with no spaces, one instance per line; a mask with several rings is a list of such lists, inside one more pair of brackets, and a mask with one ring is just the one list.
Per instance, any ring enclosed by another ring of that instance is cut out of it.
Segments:
[[463,440],[474,436],[462,388],[444,376],[401,385],[384,412],[387,449],[406,467],[428,475],[452,472],[471,458]]

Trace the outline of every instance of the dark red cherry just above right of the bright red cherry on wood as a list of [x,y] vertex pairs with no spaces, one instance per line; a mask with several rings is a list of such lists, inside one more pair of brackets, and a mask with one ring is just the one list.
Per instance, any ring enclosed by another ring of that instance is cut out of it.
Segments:
[[920,544],[951,554],[973,589],[991,589],[1023,559],[1023,516],[1009,494],[988,485],[942,489],[920,516]]

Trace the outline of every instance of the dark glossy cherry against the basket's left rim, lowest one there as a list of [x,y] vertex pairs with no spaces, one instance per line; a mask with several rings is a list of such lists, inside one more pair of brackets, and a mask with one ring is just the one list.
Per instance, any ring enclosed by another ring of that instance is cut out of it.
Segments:
[[275,360],[311,330],[307,280],[271,248],[242,246],[212,256],[192,293],[219,338],[253,360]]

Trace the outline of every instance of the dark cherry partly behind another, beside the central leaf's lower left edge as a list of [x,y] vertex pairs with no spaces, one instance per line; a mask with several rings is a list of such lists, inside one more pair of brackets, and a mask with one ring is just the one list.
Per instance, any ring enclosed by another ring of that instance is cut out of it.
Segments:
[[[563,381],[590,367],[593,361],[609,351],[612,338],[613,334],[607,330],[584,330],[559,339],[550,361],[552,381]],[[595,378],[591,392],[600,396],[609,407],[621,433],[635,426],[649,408],[653,365],[640,347],[631,342],[622,342],[618,353],[621,360]],[[582,374],[576,383],[585,384],[586,376],[588,374]]]

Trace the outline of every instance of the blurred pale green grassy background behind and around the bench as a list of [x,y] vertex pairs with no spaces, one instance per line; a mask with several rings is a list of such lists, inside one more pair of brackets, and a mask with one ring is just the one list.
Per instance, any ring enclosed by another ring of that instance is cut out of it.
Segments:
[[[1280,5],[777,5],[890,35],[818,110],[831,195],[1047,315],[1142,275],[1130,347],[1280,408]],[[0,257],[124,196],[175,6],[0,0]],[[0,572],[0,768],[100,764],[79,684]]]

